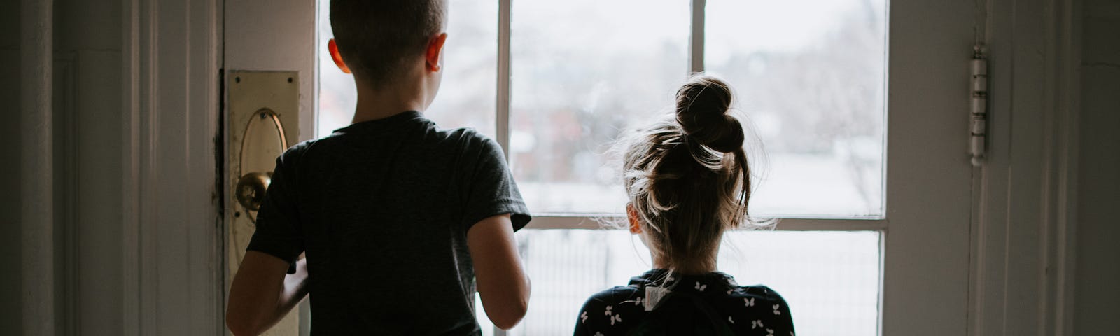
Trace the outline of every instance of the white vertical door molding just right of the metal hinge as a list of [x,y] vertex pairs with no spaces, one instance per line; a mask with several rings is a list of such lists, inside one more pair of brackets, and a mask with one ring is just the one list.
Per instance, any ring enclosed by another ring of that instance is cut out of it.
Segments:
[[1080,1],[986,4],[991,112],[973,170],[969,335],[1072,335]]

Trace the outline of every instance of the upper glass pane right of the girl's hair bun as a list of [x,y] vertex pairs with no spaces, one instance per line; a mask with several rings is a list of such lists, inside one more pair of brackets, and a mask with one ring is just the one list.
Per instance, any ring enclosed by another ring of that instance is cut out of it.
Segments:
[[752,212],[881,217],[885,0],[708,0],[704,66],[768,162]]

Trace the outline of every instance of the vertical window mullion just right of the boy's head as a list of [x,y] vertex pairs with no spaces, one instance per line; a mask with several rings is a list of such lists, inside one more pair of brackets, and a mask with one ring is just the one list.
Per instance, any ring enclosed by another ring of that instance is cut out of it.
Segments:
[[510,13],[512,0],[497,2],[497,143],[510,159]]

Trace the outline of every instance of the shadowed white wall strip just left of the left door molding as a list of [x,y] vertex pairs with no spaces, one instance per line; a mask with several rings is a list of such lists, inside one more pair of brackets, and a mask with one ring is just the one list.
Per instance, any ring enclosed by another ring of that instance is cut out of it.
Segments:
[[71,334],[123,333],[121,2],[55,0],[55,105],[62,141],[60,309]]

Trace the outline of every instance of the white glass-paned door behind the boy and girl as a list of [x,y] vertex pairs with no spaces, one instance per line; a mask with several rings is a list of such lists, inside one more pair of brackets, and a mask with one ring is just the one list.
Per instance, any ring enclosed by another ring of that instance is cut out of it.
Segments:
[[[226,69],[299,72],[298,140],[353,111],[349,78],[316,65],[319,1],[318,21],[311,1],[225,4]],[[965,333],[972,2],[449,2],[427,115],[502,143],[535,213],[519,233],[534,295],[508,334],[569,334],[587,296],[648,267],[625,232],[586,228],[622,211],[618,130],[696,71],[737,87],[768,156],[752,212],[782,218],[729,234],[721,269],[781,291],[806,335]]]

